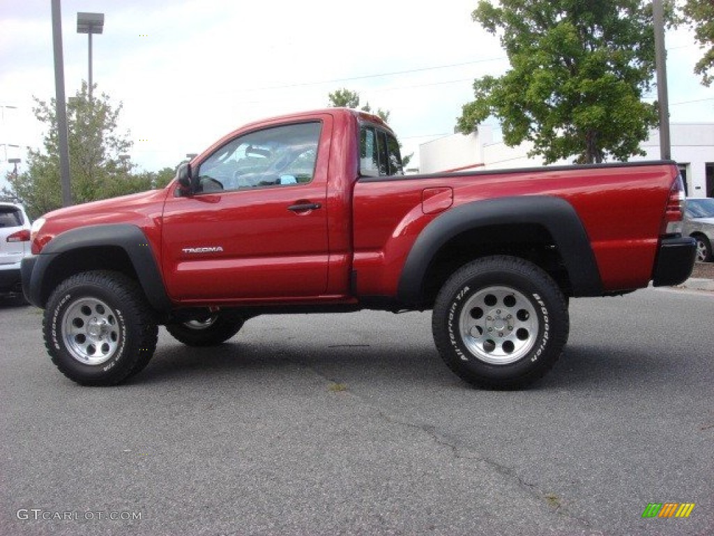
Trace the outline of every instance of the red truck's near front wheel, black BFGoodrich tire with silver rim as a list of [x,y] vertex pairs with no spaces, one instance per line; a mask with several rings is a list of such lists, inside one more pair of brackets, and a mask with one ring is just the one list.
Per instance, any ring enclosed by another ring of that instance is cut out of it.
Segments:
[[44,311],[52,362],[82,385],[114,385],[141,371],[158,328],[139,285],[117,272],[82,272],[62,282]]

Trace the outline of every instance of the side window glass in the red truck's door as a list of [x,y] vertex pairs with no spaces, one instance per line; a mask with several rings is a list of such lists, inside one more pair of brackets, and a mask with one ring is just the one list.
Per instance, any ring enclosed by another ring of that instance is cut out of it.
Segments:
[[198,168],[201,191],[311,182],[321,127],[318,122],[275,126],[231,140]]

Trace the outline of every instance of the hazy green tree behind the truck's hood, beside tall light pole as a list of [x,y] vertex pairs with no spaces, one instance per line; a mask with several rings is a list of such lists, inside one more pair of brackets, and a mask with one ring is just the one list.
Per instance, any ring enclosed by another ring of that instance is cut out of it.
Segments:
[[[121,104],[111,106],[109,96],[89,99],[87,84],[82,84],[67,104],[69,162],[72,199],[84,203],[151,188],[151,177],[131,174],[126,153],[132,142],[120,134],[117,119]],[[9,187],[3,193],[19,199],[31,218],[62,206],[59,172],[59,137],[54,99],[49,104],[35,99],[36,118],[46,124],[44,150],[29,150],[27,170],[8,175]]]

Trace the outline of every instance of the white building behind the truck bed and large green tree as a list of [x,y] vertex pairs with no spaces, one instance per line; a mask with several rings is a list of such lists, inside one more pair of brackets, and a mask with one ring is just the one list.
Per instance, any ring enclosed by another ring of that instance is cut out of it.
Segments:
[[[714,123],[675,123],[670,125],[672,159],[680,167],[690,197],[714,197]],[[640,146],[647,153],[637,160],[657,160],[660,155],[659,131]],[[451,134],[419,146],[419,172],[443,173],[476,169],[511,169],[543,165],[541,157],[528,157],[530,142],[508,147],[496,141],[489,125],[479,125],[472,134]],[[570,164],[563,160],[553,165]]]

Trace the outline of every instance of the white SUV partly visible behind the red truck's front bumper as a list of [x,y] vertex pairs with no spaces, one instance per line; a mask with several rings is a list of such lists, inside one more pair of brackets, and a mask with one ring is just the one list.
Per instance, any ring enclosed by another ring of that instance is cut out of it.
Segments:
[[30,254],[30,220],[20,204],[0,202],[0,296],[22,299],[20,262]]

